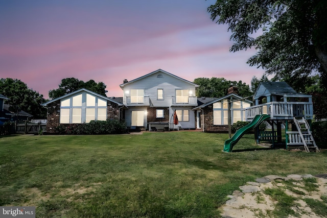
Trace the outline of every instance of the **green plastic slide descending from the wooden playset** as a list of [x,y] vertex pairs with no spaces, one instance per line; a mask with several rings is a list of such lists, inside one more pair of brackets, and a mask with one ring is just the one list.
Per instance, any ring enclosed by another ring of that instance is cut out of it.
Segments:
[[251,123],[246,125],[245,127],[242,127],[236,133],[230,138],[225,141],[224,145],[224,152],[231,152],[233,150],[233,147],[235,144],[240,140],[240,138],[250,130],[254,129],[255,127],[258,127],[264,120],[270,118],[270,115],[268,114],[261,114],[261,115],[255,115],[254,119]]

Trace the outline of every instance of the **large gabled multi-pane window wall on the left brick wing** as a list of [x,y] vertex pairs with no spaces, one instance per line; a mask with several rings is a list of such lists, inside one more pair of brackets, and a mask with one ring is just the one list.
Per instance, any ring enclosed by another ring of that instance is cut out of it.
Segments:
[[81,124],[107,119],[107,101],[82,93],[60,102],[60,123]]

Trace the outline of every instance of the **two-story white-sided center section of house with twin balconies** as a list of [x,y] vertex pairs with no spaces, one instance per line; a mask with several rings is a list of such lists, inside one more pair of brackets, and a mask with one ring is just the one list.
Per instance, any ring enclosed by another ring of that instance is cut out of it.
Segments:
[[158,69],[131,81],[124,80],[120,87],[124,92],[123,103],[128,107],[125,110],[128,127],[149,130],[151,124],[166,123],[173,129],[176,111],[182,129],[195,129],[192,109],[198,106],[197,84]]

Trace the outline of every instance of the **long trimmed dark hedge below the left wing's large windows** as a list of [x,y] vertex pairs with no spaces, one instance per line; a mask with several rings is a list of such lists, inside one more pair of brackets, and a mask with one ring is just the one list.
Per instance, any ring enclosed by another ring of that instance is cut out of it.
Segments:
[[59,134],[68,135],[103,135],[103,134],[122,134],[127,132],[126,123],[116,120],[108,119],[91,120],[88,124],[75,124],[75,125],[59,125],[55,129]]

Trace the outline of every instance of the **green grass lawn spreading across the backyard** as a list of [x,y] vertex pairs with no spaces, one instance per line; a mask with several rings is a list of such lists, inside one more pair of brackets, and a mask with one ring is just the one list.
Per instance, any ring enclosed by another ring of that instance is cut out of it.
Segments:
[[0,206],[36,217],[220,217],[227,195],[270,174],[326,173],[327,152],[269,150],[228,134],[3,136]]

